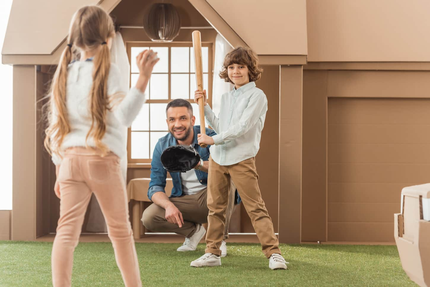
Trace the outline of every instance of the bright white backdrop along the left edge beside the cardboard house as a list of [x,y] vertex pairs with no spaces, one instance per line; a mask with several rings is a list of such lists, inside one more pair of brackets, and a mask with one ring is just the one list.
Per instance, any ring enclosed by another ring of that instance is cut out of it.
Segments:
[[[0,1],[0,48],[12,0]],[[0,210],[12,209],[12,66],[0,64]]]

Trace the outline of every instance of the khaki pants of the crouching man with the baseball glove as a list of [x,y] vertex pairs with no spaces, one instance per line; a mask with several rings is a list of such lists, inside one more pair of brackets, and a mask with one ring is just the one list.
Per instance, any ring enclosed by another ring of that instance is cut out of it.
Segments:
[[[228,224],[230,222],[231,214],[234,208],[234,191],[236,187],[230,184],[232,192],[228,192],[229,198],[227,199],[226,222],[223,227],[222,238],[228,238]],[[227,192],[226,192],[227,195]],[[184,224],[181,228],[175,223],[169,223],[166,220],[166,211],[156,204],[150,205],[142,214],[143,225],[156,232],[175,232],[187,238],[191,237],[197,229],[197,224],[208,222],[209,209],[207,206],[207,189],[193,194],[182,195],[178,197],[169,198],[178,209],[181,211],[184,219]],[[221,239],[222,240],[222,239]]]

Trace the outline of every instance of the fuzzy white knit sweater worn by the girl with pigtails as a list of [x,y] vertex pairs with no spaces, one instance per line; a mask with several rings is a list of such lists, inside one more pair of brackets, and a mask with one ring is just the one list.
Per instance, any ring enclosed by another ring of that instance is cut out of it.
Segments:
[[[86,141],[86,134],[91,127],[91,113],[89,110],[89,92],[92,86],[93,61],[75,61],[68,65],[66,105],[68,121],[71,131],[64,136],[60,151],[69,147],[95,147],[93,138]],[[126,156],[127,138],[125,130],[138,115],[146,95],[137,88],[132,88],[127,93],[121,81],[120,69],[116,64],[111,64],[107,79],[107,95],[126,95],[123,100],[107,111],[106,133],[101,142],[120,158]],[[53,120],[56,112],[53,110]],[[61,158],[53,154],[52,162],[55,165],[61,163]]]

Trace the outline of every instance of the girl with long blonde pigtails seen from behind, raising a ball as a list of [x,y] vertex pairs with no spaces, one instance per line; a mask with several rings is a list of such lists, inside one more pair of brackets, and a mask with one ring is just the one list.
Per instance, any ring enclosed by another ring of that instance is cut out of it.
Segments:
[[106,220],[125,286],[141,286],[120,157],[126,155],[123,128],[138,115],[158,58],[151,50],[137,56],[139,78],[127,92],[119,68],[111,64],[114,35],[114,23],[103,9],[79,9],[52,79],[45,147],[55,164],[54,189],[60,198],[52,246],[54,286],[71,286],[74,248],[92,192]]

